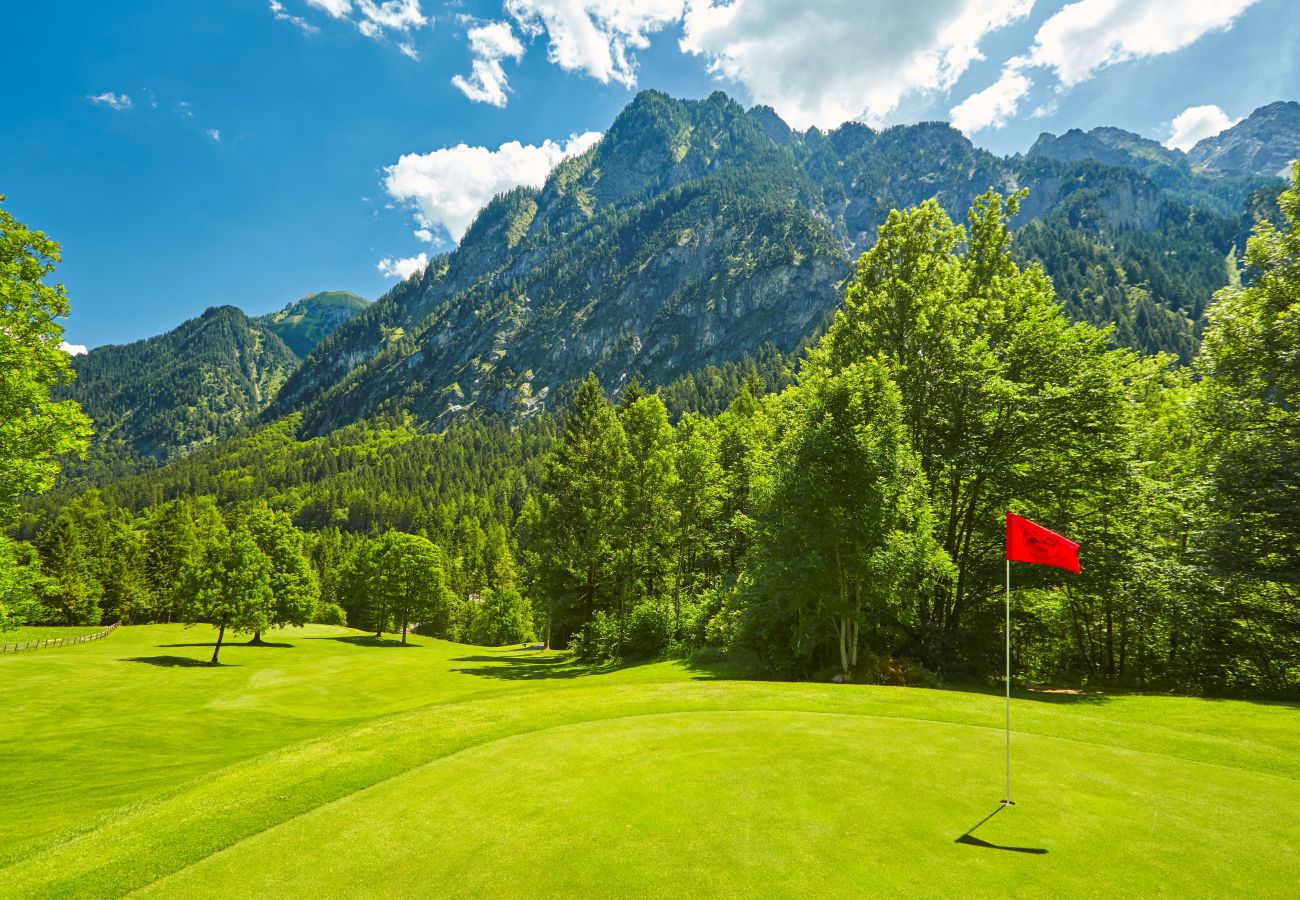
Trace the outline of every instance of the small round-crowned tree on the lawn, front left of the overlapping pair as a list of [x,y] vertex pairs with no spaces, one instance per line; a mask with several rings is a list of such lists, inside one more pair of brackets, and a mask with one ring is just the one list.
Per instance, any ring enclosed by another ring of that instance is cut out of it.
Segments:
[[217,665],[226,629],[259,632],[266,628],[273,602],[272,562],[246,528],[209,544],[188,577],[191,601],[186,624],[207,622],[217,628],[212,665]]

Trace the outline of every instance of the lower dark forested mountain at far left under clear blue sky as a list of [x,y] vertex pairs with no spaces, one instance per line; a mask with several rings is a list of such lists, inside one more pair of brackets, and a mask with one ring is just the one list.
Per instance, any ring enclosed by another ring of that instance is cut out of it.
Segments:
[[165,460],[233,434],[296,365],[270,328],[222,306],[166,334],[74,356],[77,380],[60,391],[95,421],[91,464],[113,467]]

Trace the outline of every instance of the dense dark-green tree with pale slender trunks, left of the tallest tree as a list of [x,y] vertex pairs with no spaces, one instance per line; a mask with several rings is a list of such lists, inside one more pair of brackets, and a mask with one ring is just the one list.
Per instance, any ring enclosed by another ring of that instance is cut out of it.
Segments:
[[780,438],[755,489],[745,577],[750,642],[779,672],[836,648],[849,678],[862,632],[892,650],[915,596],[950,566],[884,365],[811,369],[783,395]]

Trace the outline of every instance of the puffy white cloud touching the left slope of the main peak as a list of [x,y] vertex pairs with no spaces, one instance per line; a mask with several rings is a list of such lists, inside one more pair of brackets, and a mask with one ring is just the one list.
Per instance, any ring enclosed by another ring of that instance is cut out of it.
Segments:
[[599,139],[598,133],[588,131],[564,143],[511,140],[497,150],[456,144],[406,153],[384,169],[384,187],[394,200],[415,209],[416,222],[430,237],[441,228],[459,242],[488,200],[519,185],[540,187],[560,160]]

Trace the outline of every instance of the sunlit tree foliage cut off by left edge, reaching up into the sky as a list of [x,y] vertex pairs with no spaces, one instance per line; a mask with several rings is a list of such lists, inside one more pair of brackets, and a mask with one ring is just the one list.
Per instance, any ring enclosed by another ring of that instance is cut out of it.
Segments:
[[56,321],[68,315],[68,294],[46,284],[57,261],[57,243],[0,208],[0,520],[23,493],[48,490],[58,458],[90,441],[81,407],[49,399],[75,377]]

